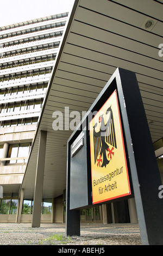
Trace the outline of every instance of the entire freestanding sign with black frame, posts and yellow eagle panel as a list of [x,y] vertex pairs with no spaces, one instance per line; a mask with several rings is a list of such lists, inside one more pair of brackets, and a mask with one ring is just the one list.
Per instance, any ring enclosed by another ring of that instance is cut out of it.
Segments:
[[[82,202],[88,204],[84,207],[134,196],[142,245],[163,245],[163,203],[159,197],[162,182],[134,72],[120,68],[114,72],[68,139],[67,235],[72,234],[72,228],[68,229],[70,223],[73,223],[73,235],[79,235],[80,229],[79,210],[83,203],[79,200],[78,208],[70,209],[70,200],[74,202],[79,198],[73,189],[70,194],[70,180],[71,175],[74,176],[73,166],[76,166],[76,161],[82,163],[82,159],[78,157],[80,154],[76,155],[71,164],[70,152],[83,127],[86,138],[89,138],[80,144],[86,149],[83,151],[86,164],[82,172],[87,191],[83,193]],[[78,183],[78,191],[81,192],[80,184],[82,182]]]

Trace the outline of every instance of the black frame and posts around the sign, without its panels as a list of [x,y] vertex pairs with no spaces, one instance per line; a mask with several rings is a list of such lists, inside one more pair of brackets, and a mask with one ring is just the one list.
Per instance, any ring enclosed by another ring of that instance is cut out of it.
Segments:
[[[70,210],[70,154],[71,144],[82,127],[87,127],[89,113],[103,105],[114,90],[123,123],[128,166],[133,184],[137,216],[143,245],[163,244],[163,204],[159,198],[162,184],[156,162],[145,108],[134,72],[117,68],[102,92],[67,142],[66,233],[80,235],[80,210]],[[88,163],[89,163],[88,155]]]

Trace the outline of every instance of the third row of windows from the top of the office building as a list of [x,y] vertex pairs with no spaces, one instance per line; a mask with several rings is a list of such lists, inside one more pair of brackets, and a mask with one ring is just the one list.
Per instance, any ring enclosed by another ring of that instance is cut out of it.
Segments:
[[35,36],[30,36],[29,38],[22,38],[19,40],[14,40],[14,41],[9,41],[9,42],[4,42],[1,43],[1,47],[8,47],[8,46],[14,46],[14,45],[20,45],[20,44],[25,44],[26,42],[34,42],[34,41],[40,41],[40,40],[45,40],[49,38],[56,38],[58,36],[62,36],[63,31],[56,31],[52,33],[46,33],[42,35],[35,35]]

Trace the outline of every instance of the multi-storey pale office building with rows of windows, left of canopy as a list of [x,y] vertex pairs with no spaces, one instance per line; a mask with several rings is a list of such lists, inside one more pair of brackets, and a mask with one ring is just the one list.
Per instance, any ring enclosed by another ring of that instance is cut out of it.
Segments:
[[62,13],[0,28],[2,221],[9,216],[15,222],[18,190],[67,17]]

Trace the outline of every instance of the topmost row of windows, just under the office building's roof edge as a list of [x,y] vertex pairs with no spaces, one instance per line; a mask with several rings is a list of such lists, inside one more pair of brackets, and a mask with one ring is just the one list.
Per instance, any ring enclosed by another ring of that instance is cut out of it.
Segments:
[[68,13],[62,13],[62,14],[56,14],[56,15],[52,15],[52,16],[48,16],[48,17],[35,19],[35,20],[15,23],[15,24],[12,24],[12,25],[1,27],[0,31],[4,31],[4,30],[7,30],[7,29],[11,29],[11,28],[18,28],[18,27],[27,26],[27,25],[32,25],[32,24],[35,24],[35,23],[43,22],[43,21],[61,19],[61,18],[67,17],[67,16],[68,16]]

